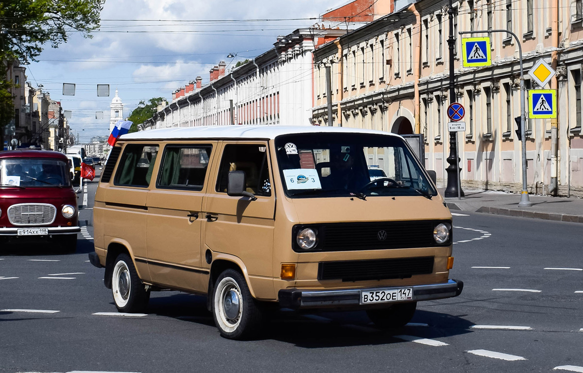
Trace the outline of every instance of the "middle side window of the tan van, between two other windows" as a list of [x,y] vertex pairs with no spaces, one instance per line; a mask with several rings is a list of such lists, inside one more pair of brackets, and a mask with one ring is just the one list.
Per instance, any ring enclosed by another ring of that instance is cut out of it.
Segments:
[[212,147],[166,146],[157,188],[202,191]]

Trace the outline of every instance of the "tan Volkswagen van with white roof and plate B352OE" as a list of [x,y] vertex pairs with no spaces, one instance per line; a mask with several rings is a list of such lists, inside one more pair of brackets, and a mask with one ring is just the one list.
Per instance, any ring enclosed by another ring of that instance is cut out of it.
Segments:
[[449,279],[443,202],[391,133],[155,129],[111,150],[89,256],[120,311],[142,311],[156,290],[208,295],[227,338],[250,336],[269,304],[363,309],[378,326],[398,327],[418,301],[462,291]]

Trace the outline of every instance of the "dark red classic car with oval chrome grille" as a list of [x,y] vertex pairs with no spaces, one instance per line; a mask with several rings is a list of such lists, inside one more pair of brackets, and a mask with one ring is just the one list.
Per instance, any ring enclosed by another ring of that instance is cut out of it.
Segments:
[[0,152],[0,242],[52,241],[75,251],[79,214],[67,162],[47,150]]

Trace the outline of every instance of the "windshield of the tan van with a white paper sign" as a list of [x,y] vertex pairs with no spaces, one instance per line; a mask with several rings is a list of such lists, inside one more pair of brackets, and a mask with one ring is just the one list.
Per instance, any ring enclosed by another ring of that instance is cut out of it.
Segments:
[[366,133],[310,133],[275,139],[290,197],[437,195],[405,142]]

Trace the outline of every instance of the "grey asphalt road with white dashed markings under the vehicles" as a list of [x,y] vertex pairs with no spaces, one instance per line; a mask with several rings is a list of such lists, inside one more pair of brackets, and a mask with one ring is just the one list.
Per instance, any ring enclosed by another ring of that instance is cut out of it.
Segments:
[[583,372],[580,224],[456,215],[459,297],[421,302],[394,332],[364,312],[280,311],[259,339],[236,342],[196,295],[153,293],[147,315],[116,315],[87,258],[97,183],[87,186],[75,254],[0,248],[2,372]]

